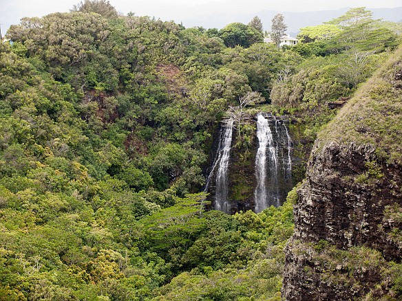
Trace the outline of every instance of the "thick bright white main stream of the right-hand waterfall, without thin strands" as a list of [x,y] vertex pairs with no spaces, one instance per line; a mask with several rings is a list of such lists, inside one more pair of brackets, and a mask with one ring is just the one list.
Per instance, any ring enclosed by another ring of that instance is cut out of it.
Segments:
[[[257,187],[254,190],[255,212],[261,212],[270,204],[270,198],[266,187],[267,163],[270,176],[277,174],[277,150],[273,142],[273,135],[269,128],[268,120],[260,113],[257,116],[258,149],[255,156],[255,177]],[[268,160],[267,160],[268,155]],[[274,196],[275,197],[275,196]]]

